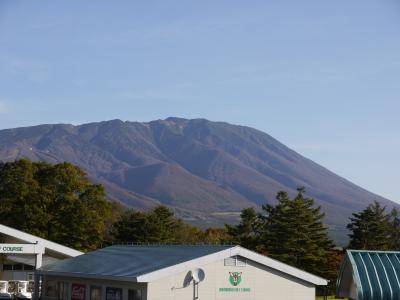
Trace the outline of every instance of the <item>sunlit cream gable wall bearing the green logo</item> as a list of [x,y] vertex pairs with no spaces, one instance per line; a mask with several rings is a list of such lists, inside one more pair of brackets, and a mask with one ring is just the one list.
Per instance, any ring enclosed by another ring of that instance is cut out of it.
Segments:
[[[315,287],[309,283],[247,261],[245,267],[225,266],[224,260],[201,267],[205,280],[199,284],[199,300],[314,300]],[[241,273],[236,287],[230,272]],[[184,288],[187,272],[148,284],[147,300],[187,300],[193,298],[193,285]]]

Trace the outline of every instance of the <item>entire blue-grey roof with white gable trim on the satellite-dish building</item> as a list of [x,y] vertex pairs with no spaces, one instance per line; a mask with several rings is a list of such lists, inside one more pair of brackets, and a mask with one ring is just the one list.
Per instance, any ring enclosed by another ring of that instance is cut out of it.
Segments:
[[232,256],[241,256],[314,285],[326,279],[240,246],[111,246],[38,270],[42,275],[152,282]]

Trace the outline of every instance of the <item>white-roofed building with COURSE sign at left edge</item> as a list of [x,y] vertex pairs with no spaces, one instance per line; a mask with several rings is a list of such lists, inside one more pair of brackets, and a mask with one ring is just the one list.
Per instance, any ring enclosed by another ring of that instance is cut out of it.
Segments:
[[36,268],[83,254],[0,224],[0,279],[33,280]]

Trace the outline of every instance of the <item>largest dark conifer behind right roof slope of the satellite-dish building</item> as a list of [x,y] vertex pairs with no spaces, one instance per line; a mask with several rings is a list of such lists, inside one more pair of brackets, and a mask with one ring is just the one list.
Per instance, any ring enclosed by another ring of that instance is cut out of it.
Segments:
[[304,192],[299,188],[293,199],[279,192],[275,206],[263,206],[263,244],[270,257],[323,276],[334,245],[323,225],[321,208]]

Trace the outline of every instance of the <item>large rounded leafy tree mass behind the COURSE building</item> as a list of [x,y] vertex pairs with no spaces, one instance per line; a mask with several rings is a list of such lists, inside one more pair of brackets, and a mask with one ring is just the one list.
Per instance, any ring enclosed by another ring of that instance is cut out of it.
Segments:
[[63,245],[91,250],[106,232],[111,205],[101,185],[70,163],[0,164],[0,218],[5,225]]

